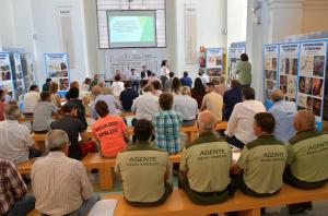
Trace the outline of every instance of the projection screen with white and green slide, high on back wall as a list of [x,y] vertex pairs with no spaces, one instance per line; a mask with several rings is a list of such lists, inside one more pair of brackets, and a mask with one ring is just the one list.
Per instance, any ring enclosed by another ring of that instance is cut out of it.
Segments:
[[154,10],[108,10],[109,48],[157,47]]

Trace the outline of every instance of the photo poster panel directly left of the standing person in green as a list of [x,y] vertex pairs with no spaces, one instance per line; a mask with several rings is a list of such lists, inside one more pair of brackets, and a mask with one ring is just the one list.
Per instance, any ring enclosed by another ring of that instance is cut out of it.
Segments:
[[230,47],[229,48],[229,83],[236,80],[236,64],[241,60],[241,55],[246,52],[246,47]]

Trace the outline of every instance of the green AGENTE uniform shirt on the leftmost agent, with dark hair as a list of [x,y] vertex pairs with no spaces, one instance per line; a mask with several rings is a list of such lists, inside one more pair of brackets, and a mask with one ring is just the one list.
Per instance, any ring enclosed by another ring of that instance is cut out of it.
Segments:
[[140,143],[119,153],[115,165],[115,172],[122,179],[125,197],[142,203],[156,202],[163,196],[164,176],[171,169],[167,152]]

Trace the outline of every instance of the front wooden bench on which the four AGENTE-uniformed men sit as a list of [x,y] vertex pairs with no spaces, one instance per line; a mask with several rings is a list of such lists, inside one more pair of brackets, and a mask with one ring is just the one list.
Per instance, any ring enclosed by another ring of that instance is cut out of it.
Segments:
[[328,200],[328,184],[316,190],[301,190],[284,184],[279,194],[269,197],[251,197],[236,191],[226,202],[214,205],[194,204],[183,190],[174,190],[167,201],[156,207],[132,207],[127,204],[122,194],[105,195],[103,199],[118,200],[115,216],[202,216],[233,211],[241,211],[246,216],[260,216],[261,207]]

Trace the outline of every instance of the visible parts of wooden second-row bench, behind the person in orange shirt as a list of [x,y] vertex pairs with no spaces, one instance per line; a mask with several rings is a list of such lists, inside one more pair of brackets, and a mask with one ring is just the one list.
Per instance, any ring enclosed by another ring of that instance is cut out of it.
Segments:
[[[169,159],[173,164],[180,161],[180,155],[171,155]],[[105,158],[98,153],[89,154],[82,159],[84,167],[87,170],[97,169],[99,173],[99,188],[103,190],[113,190],[113,168],[115,167],[116,158]],[[21,175],[31,173],[31,168],[34,159],[17,165],[17,169]]]

